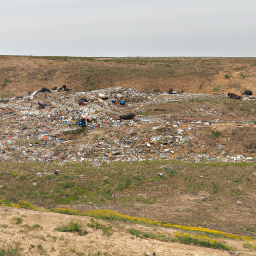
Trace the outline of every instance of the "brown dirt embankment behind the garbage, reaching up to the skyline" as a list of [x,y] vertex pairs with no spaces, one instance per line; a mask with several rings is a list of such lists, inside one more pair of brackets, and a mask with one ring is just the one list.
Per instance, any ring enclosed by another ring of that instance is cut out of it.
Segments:
[[85,58],[0,56],[3,96],[66,84],[73,91],[122,86],[144,92],[169,88],[187,93],[255,91],[254,58]]

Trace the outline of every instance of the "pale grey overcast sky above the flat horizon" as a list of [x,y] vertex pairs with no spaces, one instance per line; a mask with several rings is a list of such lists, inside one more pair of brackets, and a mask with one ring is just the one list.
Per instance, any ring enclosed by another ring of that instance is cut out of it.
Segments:
[[0,55],[256,57],[256,0],[0,0]]

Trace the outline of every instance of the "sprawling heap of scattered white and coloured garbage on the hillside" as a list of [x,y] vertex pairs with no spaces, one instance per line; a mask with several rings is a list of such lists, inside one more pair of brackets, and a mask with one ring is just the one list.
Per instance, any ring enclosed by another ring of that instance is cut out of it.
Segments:
[[[222,162],[253,160],[251,157],[225,157],[224,154],[203,155],[199,151],[184,156],[182,145],[196,147],[198,137],[194,130],[210,123],[170,122],[172,114],[163,118],[162,115],[147,116],[144,112],[145,107],[155,104],[221,98],[221,95],[144,93],[122,87],[77,93],[40,89],[29,94],[0,100],[1,162],[88,161],[100,165],[111,161],[161,158]],[[214,110],[199,111],[207,115],[220,114]],[[86,123],[83,127],[78,123],[81,119]]]

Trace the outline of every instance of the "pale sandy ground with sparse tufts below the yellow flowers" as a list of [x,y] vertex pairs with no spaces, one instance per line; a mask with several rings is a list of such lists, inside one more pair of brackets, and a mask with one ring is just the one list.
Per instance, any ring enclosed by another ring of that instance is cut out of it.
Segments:
[[[13,218],[21,217],[22,224],[14,224]],[[179,243],[162,242],[154,239],[140,239],[127,232],[130,228],[142,228],[146,226],[113,227],[111,236],[103,235],[100,229],[87,227],[88,234],[80,236],[77,233],[62,233],[54,231],[58,226],[65,225],[71,219],[80,220],[83,226],[90,221],[89,217],[69,216],[51,212],[38,212],[21,208],[0,207],[0,247],[11,245],[19,246],[18,255],[172,255],[172,256],[204,256],[204,255],[229,255],[227,251],[184,245]],[[100,223],[105,223],[100,221]],[[31,227],[39,224],[38,230]],[[7,226],[7,227],[6,227]],[[29,229],[30,227],[30,229]],[[164,230],[163,230],[164,231]],[[172,232],[172,230],[168,230]],[[166,232],[166,229],[165,229]],[[55,237],[52,238],[52,237]],[[236,247],[238,242],[229,242]],[[31,248],[30,244],[35,245]],[[41,244],[43,250],[38,250]],[[242,247],[240,247],[242,248]],[[244,249],[243,249],[244,250]],[[82,254],[84,253],[84,254]],[[241,252],[239,255],[256,255],[252,252]]]

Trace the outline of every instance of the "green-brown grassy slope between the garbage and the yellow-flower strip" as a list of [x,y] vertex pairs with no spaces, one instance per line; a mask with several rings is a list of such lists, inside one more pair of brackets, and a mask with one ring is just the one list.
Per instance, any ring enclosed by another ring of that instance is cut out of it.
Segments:
[[[159,170],[160,165],[163,168]],[[79,204],[82,209],[111,205],[133,216],[253,236],[255,167],[247,163],[191,164],[165,160],[102,167],[9,163],[1,164],[0,196],[46,208],[60,204]],[[177,173],[172,175],[173,169]],[[36,174],[55,170],[61,171],[61,175]],[[164,173],[162,179],[157,176],[159,171]]]

